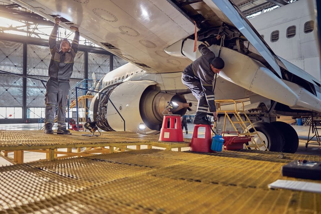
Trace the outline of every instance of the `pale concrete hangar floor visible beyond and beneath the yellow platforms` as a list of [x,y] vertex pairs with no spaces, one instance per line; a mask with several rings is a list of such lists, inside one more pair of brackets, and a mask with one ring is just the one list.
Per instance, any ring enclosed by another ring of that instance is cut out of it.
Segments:
[[[43,125],[43,124],[42,124]],[[0,129],[1,130],[39,130],[39,124],[38,123],[30,123],[30,124],[0,124]],[[296,151],[296,154],[306,154],[306,155],[319,155],[321,156],[321,147],[318,145],[308,145],[308,148],[305,148],[305,142],[308,137],[308,131],[309,131],[309,126],[297,126],[293,125],[292,126],[298,133],[299,139],[304,139],[305,141],[299,142],[299,147],[298,150]],[[194,130],[194,124],[187,124],[188,128],[188,134],[185,134],[185,129],[183,130],[183,136],[184,138],[192,138],[193,130]],[[53,129],[56,129],[56,125],[54,126]],[[202,135],[204,134],[204,129],[199,130],[199,134]],[[134,149],[135,147],[133,147]],[[142,146],[142,149],[146,149],[147,146]],[[153,147],[154,148],[154,147]],[[156,148],[156,147],[155,147]],[[158,149],[164,149],[164,148],[158,148]],[[65,149],[59,149],[62,151],[65,151]],[[174,151],[177,149],[173,149]],[[182,151],[189,150],[188,148],[182,148]],[[73,150],[76,152],[76,150]],[[13,152],[9,153],[9,156],[13,157]],[[24,152],[24,161],[34,161],[37,159],[44,159],[46,158],[46,154],[44,153],[38,153],[38,152],[29,152],[25,151]],[[3,165],[11,165],[10,162],[6,161],[3,158],[0,158],[0,166]]]

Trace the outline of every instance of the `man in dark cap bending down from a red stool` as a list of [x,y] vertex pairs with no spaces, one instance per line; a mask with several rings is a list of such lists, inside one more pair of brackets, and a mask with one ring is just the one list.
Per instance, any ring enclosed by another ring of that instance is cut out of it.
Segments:
[[198,46],[202,54],[193,63],[188,65],[182,73],[182,82],[197,98],[197,111],[193,124],[211,124],[205,117],[207,110],[213,113],[214,120],[217,120],[215,97],[213,92],[213,80],[215,73],[220,73],[224,67],[224,61],[208,49],[213,44],[218,45],[221,35],[216,38],[207,39]]

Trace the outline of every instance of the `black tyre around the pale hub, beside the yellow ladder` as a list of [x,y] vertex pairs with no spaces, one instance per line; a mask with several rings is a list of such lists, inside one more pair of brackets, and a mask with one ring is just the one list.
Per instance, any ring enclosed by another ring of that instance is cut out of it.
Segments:
[[[282,151],[282,134],[274,128],[273,125],[266,123],[266,122],[256,122],[253,124],[256,131],[261,132],[265,135],[267,139],[266,147],[269,151]],[[250,132],[254,132],[252,127],[249,127]]]

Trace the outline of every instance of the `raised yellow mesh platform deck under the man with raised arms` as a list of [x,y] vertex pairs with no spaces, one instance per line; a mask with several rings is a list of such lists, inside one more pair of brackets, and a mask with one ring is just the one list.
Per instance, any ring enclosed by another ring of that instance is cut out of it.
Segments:
[[[120,145],[142,145],[158,141],[157,135],[143,135],[131,132],[102,132],[99,137],[84,137],[81,134],[89,132],[71,131],[72,135],[45,134],[44,131],[10,131],[0,130],[0,150],[28,150],[30,146],[55,145],[67,148],[76,144],[99,145],[101,143],[119,143]],[[185,139],[190,142],[190,139]]]

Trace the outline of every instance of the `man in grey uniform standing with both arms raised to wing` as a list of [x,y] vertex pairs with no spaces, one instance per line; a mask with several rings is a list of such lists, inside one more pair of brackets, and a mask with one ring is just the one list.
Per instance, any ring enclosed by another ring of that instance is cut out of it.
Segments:
[[75,30],[75,36],[72,44],[67,39],[63,39],[60,48],[56,46],[57,32],[59,28],[60,19],[56,17],[55,26],[49,37],[49,48],[51,59],[49,64],[48,76],[49,80],[46,84],[45,94],[45,133],[52,134],[52,126],[55,120],[56,106],[58,106],[57,133],[70,133],[66,129],[66,106],[69,95],[69,78],[73,73],[74,57],[78,51],[79,45],[79,31],[76,27],[70,27]]

